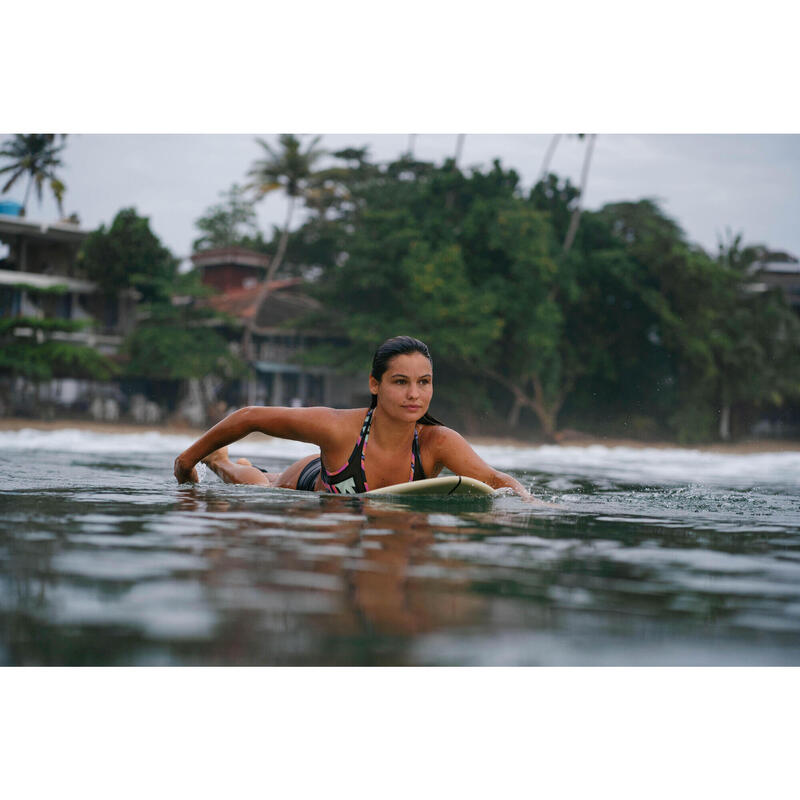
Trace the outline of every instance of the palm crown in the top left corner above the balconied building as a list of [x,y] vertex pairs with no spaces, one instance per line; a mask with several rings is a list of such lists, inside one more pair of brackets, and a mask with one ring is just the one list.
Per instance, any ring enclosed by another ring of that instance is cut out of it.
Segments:
[[36,187],[36,197],[42,202],[42,185],[50,181],[50,190],[58,203],[58,212],[63,215],[62,201],[66,187],[56,177],[55,170],[63,166],[59,154],[64,149],[66,134],[62,133],[61,144],[56,144],[55,133],[17,133],[13,139],[5,142],[0,149],[0,158],[11,159],[10,164],[0,167],[0,175],[11,173],[11,177],[3,186],[7,192],[23,175],[28,176],[25,187],[25,198],[22,201],[23,213],[27,210],[31,187]]

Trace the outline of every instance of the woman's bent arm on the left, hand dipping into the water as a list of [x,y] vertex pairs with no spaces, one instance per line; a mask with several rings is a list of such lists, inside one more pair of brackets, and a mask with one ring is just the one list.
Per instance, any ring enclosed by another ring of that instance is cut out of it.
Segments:
[[248,406],[240,408],[204,433],[193,445],[175,459],[178,483],[196,479],[195,464],[220,447],[226,447],[247,436],[260,432],[281,439],[295,439],[328,445],[337,429],[337,414],[332,408],[275,408]]

